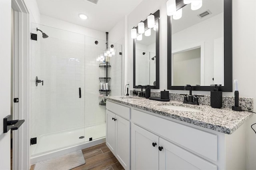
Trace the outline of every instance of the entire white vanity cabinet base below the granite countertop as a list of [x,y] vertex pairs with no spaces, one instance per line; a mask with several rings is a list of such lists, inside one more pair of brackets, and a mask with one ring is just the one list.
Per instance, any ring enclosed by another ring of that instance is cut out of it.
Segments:
[[224,134],[112,101],[106,108],[106,144],[126,170],[246,169],[245,125]]

